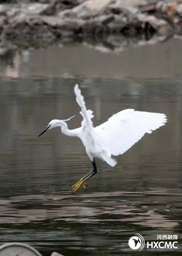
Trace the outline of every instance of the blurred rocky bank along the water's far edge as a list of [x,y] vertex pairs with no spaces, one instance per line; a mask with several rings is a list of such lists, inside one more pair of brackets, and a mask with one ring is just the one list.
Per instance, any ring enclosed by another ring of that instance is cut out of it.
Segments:
[[[9,4],[2,2],[9,2]],[[56,40],[104,40],[111,35],[163,36],[182,31],[182,0],[0,1],[1,40],[29,47]],[[41,45],[40,45],[41,46]]]

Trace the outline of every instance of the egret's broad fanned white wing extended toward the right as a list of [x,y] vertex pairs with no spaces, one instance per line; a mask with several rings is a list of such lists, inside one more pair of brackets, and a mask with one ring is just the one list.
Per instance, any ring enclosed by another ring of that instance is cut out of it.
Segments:
[[166,115],[125,109],[94,128],[95,136],[110,155],[118,156],[131,148],[145,133],[167,122]]

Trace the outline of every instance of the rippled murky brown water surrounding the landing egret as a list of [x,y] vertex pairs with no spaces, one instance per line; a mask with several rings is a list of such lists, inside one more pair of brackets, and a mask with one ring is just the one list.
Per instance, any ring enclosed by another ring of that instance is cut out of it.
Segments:
[[[43,255],[181,255],[182,50],[180,41],[104,53],[86,45],[2,54],[0,65],[0,243]],[[178,54],[177,54],[178,53]],[[97,160],[87,192],[71,185],[92,168],[81,141],[55,128],[81,116],[80,84],[94,124],[125,108],[165,113],[168,123],[112,168]],[[135,252],[128,240],[178,235],[178,249]]]

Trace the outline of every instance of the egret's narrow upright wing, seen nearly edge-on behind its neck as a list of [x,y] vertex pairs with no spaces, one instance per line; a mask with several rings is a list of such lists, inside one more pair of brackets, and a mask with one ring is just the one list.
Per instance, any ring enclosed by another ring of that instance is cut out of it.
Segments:
[[86,109],[84,97],[82,96],[81,91],[78,88],[78,84],[74,86],[74,92],[76,95],[76,102],[78,103],[78,105],[82,110],[80,111],[80,114],[83,116],[83,121],[82,121],[83,130],[87,132],[87,134],[90,137],[92,137],[93,124],[92,124],[91,118],[93,117],[92,115],[93,111],[90,109],[89,110]]

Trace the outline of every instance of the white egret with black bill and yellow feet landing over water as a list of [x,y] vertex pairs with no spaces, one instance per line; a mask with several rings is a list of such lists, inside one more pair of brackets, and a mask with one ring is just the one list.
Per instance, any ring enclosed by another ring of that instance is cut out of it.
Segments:
[[52,120],[47,128],[40,133],[42,135],[47,130],[60,126],[62,133],[67,136],[76,136],[84,144],[86,153],[93,164],[93,170],[72,186],[73,192],[81,186],[85,188],[85,181],[97,173],[95,157],[100,158],[110,166],[114,166],[117,162],[112,158],[112,155],[123,154],[145,133],[151,133],[167,122],[165,114],[125,109],[111,116],[105,123],[94,127],[91,121],[93,111],[86,109],[84,97],[78,84],[75,85],[74,92],[76,101],[81,108],[80,114],[83,116],[81,127],[73,130],[68,129],[66,121],[69,121],[72,116],[66,120]]

